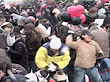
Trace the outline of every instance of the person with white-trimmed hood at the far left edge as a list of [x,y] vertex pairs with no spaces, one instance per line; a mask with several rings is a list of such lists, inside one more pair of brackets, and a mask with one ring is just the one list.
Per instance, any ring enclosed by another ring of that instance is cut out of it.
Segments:
[[[3,33],[0,35],[0,48],[7,49],[8,46],[15,42],[15,36],[12,36],[14,27],[10,22],[4,22],[0,29],[3,30]],[[9,39],[11,41],[9,41]]]

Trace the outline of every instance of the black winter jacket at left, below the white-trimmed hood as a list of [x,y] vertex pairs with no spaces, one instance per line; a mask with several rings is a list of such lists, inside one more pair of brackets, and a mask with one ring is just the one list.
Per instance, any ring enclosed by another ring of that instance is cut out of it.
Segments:
[[12,63],[20,64],[26,69],[28,68],[28,52],[26,45],[22,40],[17,40],[8,50]]

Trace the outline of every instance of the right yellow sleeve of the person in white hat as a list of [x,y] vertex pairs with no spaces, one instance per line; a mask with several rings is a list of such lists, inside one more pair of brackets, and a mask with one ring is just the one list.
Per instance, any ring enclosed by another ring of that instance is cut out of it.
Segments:
[[63,68],[65,68],[65,67],[69,64],[70,59],[71,59],[71,58],[70,58],[70,51],[67,50],[67,51],[65,52],[65,54],[63,55],[61,61],[55,62],[55,63],[58,65],[58,69],[63,69]]

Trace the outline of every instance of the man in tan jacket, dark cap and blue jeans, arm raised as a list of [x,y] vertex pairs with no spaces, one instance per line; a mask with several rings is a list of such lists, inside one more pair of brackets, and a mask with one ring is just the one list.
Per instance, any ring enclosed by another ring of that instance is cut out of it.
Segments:
[[77,41],[72,41],[72,35],[68,35],[66,44],[77,50],[73,82],[82,82],[85,74],[92,82],[103,82],[95,67],[96,54],[103,55],[103,51],[95,41],[91,40],[91,33],[87,29],[82,30],[81,37]]

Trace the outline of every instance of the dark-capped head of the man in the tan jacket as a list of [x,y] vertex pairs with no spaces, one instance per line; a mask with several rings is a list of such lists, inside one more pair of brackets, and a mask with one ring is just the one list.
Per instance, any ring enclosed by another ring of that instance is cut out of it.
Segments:
[[81,39],[82,40],[84,40],[85,42],[88,43],[91,41],[91,37],[92,37],[92,35],[89,30],[86,30],[86,29],[82,30],[82,32],[81,32]]

